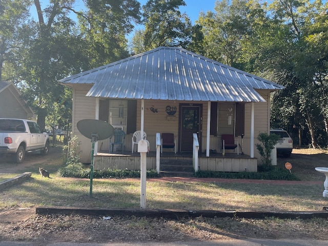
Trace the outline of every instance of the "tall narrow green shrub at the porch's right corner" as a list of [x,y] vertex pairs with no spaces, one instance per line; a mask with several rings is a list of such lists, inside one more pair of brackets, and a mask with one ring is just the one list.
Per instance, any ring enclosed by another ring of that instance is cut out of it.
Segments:
[[262,166],[265,169],[270,170],[272,168],[271,152],[277,144],[279,138],[280,137],[276,134],[268,135],[265,132],[258,134],[257,140],[259,140],[261,144],[256,144],[255,146],[261,155]]

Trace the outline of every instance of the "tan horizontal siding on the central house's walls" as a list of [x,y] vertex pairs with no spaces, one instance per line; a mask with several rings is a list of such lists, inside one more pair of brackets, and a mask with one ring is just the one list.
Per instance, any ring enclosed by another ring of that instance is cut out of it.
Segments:
[[[78,89],[77,89],[78,88]],[[90,90],[91,85],[78,86],[73,90],[73,135],[78,134],[76,124],[81,119],[95,118],[96,99],[94,97],[86,97],[85,95]],[[268,100],[270,94],[267,91],[259,91],[261,96]],[[171,132],[174,133],[176,143],[178,144],[178,127],[179,127],[179,104],[195,104],[194,101],[170,101],[170,100],[145,100],[145,122],[144,131],[147,133],[147,140],[150,142],[150,151],[156,150],[156,133]],[[196,104],[202,104],[202,149],[201,152],[206,151],[206,133],[207,133],[207,110],[208,102],[197,102]],[[176,107],[176,113],[174,116],[168,116],[166,113],[166,107]],[[257,142],[257,135],[260,132],[267,132],[270,127],[270,119],[268,111],[268,103],[255,103],[255,144]],[[137,130],[140,130],[141,126],[141,100],[137,100]],[[152,110],[153,111],[152,111]],[[250,154],[250,130],[251,130],[251,104],[245,104],[245,135],[243,138],[243,151],[245,154]],[[132,135],[126,135],[125,150],[131,151],[132,149]],[[235,140],[241,144],[241,138],[237,137]],[[90,160],[91,142],[90,139],[83,140],[83,146],[81,150],[83,153],[81,157],[83,159]],[[90,145],[90,148],[89,148]],[[109,151],[108,139],[98,141],[98,151]],[[220,138],[210,137],[210,149],[220,152]],[[259,154],[254,146],[255,156],[259,158]],[[171,150],[165,150],[171,151]],[[87,162],[87,161],[83,161]]]

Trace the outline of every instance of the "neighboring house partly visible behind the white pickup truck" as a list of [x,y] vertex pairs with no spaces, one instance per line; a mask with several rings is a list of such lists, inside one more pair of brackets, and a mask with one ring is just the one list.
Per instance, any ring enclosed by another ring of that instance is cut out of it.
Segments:
[[12,82],[0,81],[0,118],[29,119],[33,111]]

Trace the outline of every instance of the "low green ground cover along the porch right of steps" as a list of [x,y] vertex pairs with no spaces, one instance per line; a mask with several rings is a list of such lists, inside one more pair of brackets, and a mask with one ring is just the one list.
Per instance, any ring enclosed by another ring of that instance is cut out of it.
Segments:
[[199,171],[194,174],[197,178],[233,178],[233,179],[265,179],[265,180],[299,180],[294,174],[288,170],[273,167],[271,171],[261,172],[211,172]]

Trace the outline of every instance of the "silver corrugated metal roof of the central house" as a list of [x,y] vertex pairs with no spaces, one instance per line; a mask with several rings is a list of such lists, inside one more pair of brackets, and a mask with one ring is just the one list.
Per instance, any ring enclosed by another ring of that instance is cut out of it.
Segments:
[[87,96],[193,100],[265,101],[256,89],[283,86],[176,47],[158,47],[59,80],[94,84]]

